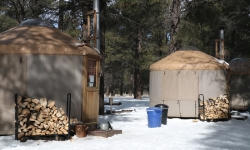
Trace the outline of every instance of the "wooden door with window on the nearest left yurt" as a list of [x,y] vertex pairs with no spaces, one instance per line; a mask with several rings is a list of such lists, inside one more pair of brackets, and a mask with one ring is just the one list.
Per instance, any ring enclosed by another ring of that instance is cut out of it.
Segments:
[[99,60],[85,57],[83,121],[97,122],[99,115]]

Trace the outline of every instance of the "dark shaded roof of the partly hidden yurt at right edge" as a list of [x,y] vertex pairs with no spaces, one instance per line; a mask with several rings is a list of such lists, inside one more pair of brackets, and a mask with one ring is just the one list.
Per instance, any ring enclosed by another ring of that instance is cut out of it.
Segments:
[[250,61],[244,58],[234,58],[229,62],[231,74],[250,74]]

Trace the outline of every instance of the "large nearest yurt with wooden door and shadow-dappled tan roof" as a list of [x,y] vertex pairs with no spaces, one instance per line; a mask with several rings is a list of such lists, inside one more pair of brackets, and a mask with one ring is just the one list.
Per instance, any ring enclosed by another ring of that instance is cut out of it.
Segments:
[[53,25],[26,22],[0,34],[0,135],[14,133],[15,94],[54,100],[97,122],[100,54]]

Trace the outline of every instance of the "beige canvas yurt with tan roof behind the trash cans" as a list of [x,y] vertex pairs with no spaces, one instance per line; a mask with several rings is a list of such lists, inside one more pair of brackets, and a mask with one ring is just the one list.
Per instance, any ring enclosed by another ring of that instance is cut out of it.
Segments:
[[150,106],[168,105],[168,117],[198,117],[199,94],[207,100],[228,93],[227,69],[204,52],[176,51],[150,66]]

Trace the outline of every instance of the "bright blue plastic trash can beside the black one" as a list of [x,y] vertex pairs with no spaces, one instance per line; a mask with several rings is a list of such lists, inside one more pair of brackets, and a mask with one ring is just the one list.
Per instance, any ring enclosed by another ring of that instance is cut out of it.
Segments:
[[147,108],[148,114],[148,127],[149,128],[157,128],[161,127],[161,115],[162,109],[157,107]]

